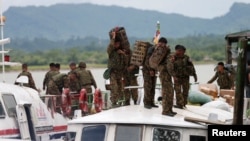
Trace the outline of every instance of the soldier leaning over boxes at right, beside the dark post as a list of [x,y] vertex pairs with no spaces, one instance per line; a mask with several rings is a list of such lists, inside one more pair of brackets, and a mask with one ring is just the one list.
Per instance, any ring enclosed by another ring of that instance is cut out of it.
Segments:
[[233,80],[230,73],[225,70],[223,62],[218,63],[216,73],[207,83],[213,83],[216,79],[220,89],[232,89]]

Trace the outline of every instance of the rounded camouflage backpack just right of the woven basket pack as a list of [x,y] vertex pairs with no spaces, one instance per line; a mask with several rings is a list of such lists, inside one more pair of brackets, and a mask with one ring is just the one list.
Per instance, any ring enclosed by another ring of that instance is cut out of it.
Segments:
[[158,65],[161,63],[163,58],[167,54],[167,49],[165,47],[156,47],[149,58],[149,66],[157,70]]

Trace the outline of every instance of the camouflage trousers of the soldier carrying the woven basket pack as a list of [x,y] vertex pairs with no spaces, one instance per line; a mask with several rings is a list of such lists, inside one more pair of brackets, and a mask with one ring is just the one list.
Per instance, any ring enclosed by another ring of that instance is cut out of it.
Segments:
[[143,87],[144,87],[144,105],[154,104],[155,87],[156,87],[156,76],[150,76],[149,71],[143,71]]

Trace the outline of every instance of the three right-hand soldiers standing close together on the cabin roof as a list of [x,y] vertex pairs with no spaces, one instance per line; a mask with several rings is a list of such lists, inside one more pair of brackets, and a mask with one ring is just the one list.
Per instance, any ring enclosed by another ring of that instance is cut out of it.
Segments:
[[[183,45],[176,45],[175,52],[171,52],[166,38],[161,37],[158,43],[148,49],[145,64],[143,66],[144,78],[144,107],[151,109],[158,107],[154,102],[156,74],[159,74],[162,95],[162,115],[175,116],[173,106],[183,109],[187,104],[189,91],[189,78],[197,75],[194,65]],[[155,55],[156,60],[152,59]],[[160,56],[160,57],[157,57]],[[174,92],[176,105],[173,105]]]

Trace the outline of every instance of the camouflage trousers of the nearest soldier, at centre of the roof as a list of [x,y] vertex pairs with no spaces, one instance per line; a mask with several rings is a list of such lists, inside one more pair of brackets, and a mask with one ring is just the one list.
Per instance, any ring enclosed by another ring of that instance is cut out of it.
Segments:
[[174,89],[172,78],[167,72],[161,72],[161,93],[162,93],[162,114],[166,114],[172,111],[173,99],[174,99]]

